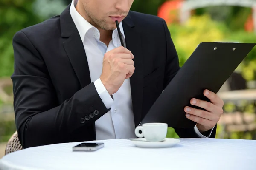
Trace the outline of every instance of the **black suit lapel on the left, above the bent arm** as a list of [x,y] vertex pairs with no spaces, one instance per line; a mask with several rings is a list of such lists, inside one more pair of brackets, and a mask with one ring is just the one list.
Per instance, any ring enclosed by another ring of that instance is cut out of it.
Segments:
[[79,79],[81,88],[84,88],[91,83],[90,71],[84,45],[75,23],[73,23],[69,9],[70,5],[61,14],[61,37],[65,38],[64,49]]

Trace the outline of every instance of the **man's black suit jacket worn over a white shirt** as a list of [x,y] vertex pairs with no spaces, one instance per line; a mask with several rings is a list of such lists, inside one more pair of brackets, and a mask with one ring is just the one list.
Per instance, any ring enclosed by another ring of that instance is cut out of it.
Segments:
[[[90,80],[69,8],[13,38],[15,123],[24,148],[96,140],[95,121],[109,111]],[[135,57],[130,82],[137,126],[179,70],[179,62],[163,19],[130,11],[122,24]],[[175,130],[181,138],[198,137],[193,129]]]

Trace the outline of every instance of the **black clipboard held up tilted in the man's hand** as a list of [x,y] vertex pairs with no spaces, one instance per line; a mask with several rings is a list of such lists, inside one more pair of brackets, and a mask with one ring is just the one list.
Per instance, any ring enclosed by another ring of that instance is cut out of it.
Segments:
[[208,89],[217,93],[224,82],[249,54],[255,43],[201,42],[180,71],[167,85],[143,118],[143,123],[161,122],[168,127],[192,128],[195,122],[185,116],[185,106]]

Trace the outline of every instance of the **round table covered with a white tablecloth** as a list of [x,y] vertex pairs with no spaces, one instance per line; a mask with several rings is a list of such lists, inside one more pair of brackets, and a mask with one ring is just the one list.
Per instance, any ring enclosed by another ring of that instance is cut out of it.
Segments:
[[0,170],[255,170],[256,141],[180,139],[170,148],[139,148],[127,139],[104,140],[93,152],[73,152],[81,143],[52,144],[9,153]]

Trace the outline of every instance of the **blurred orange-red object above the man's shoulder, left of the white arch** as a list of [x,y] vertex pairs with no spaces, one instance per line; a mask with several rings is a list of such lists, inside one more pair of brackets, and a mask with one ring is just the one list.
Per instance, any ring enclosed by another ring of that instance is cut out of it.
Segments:
[[166,23],[179,22],[179,9],[184,0],[169,0],[164,2],[158,9],[157,16],[163,18]]

